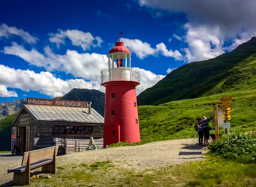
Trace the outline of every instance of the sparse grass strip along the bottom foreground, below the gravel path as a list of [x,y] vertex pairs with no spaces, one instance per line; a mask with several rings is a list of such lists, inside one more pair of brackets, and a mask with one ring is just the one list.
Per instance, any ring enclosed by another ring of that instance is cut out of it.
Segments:
[[[145,169],[140,172],[111,166],[111,161],[95,162],[90,165],[63,166],[51,179],[33,179],[31,187],[93,186],[93,187],[240,187],[256,186],[256,164],[241,164],[207,153],[204,161]],[[97,169],[91,170],[90,166]],[[64,181],[64,182],[63,182]]]

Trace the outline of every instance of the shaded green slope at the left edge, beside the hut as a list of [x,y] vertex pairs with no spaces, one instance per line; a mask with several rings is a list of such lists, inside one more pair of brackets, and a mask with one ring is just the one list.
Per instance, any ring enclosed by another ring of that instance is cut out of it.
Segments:
[[0,151],[11,150],[12,121],[17,114],[13,114],[0,120]]

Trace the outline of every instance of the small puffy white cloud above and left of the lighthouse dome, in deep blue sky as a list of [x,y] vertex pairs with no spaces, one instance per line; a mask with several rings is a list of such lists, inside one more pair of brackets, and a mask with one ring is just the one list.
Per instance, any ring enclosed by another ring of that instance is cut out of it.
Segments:
[[[50,42],[55,43],[57,47],[60,47],[60,44],[65,44],[65,38],[71,40],[72,45],[82,47],[84,51],[90,49],[90,47],[101,47],[101,43],[103,42],[100,37],[96,36],[94,38],[89,32],[85,33],[79,30],[69,29],[67,29],[66,31],[59,29],[58,31],[60,33],[49,34],[49,36],[51,36],[49,38]],[[94,44],[94,41],[96,42],[96,44]]]

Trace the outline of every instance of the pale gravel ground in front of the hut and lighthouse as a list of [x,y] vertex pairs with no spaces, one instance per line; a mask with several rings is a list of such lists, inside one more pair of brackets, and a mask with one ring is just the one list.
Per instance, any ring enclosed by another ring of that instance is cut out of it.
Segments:
[[[151,142],[136,146],[121,146],[107,149],[95,149],[76,152],[57,157],[57,166],[68,163],[93,163],[95,161],[111,160],[117,167],[125,169],[158,169],[160,167],[180,164],[188,161],[202,160],[207,147],[196,144],[198,139],[178,139]],[[11,153],[0,153],[0,187],[11,186],[13,173],[7,174],[7,169],[19,166],[22,156],[12,156]],[[129,164],[121,164],[127,162]]]

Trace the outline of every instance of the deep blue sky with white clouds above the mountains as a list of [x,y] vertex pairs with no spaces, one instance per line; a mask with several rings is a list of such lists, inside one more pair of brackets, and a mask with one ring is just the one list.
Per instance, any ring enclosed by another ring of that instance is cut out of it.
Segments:
[[255,0],[3,1],[0,103],[97,89],[118,41],[140,69],[137,95],[172,70],[256,36]]

